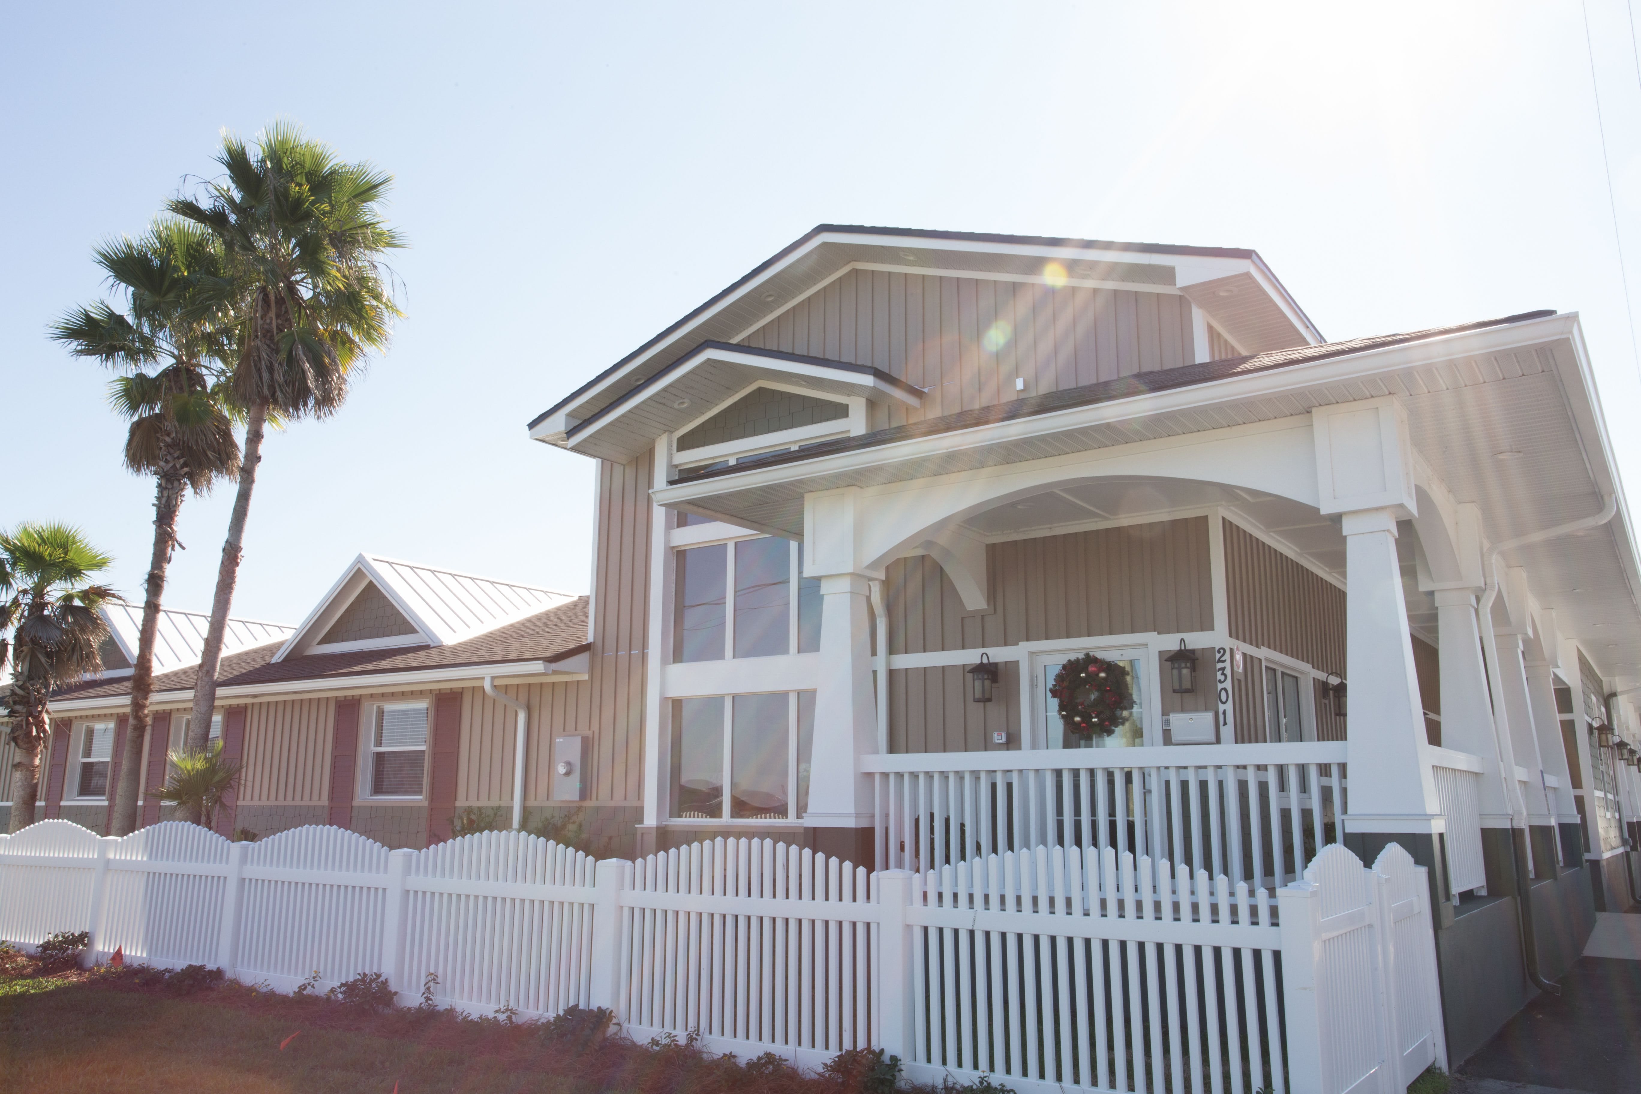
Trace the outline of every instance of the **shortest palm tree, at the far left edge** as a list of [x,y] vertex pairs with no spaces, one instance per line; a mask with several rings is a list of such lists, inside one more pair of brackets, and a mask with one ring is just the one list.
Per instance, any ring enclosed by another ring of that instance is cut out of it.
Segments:
[[[97,648],[108,636],[97,609],[120,600],[92,574],[113,559],[67,525],[0,531],[0,671],[11,664],[0,705],[11,722],[11,832],[34,822],[39,746],[51,735],[51,692],[102,672]],[[11,631],[10,643],[3,638]]]

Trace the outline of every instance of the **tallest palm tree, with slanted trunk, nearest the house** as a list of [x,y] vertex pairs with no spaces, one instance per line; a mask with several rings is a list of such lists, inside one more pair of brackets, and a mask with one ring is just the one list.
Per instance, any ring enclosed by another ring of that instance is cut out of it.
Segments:
[[169,203],[172,213],[222,239],[245,285],[228,382],[246,410],[245,458],[194,684],[185,743],[192,751],[210,735],[222,635],[267,417],[327,417],[341,407],[353,371],[369,351],[387,346],[392,320],[400,315],[382,261],[389,249],[404,246],[377,208],[392,175],[336,159],[299,126],[276,123],[254,146],[226,136],[217,162],[226,174],[205,185],[203,200]]

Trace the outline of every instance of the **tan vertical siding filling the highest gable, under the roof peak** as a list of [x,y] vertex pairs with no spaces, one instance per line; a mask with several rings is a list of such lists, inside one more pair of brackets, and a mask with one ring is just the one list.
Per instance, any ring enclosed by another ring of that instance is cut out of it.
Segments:
[[742,344],[870,364],[926,389],[919,410],[873,405],[871,430],[1196,359],[1191,305],[1177,294],[865,269]]

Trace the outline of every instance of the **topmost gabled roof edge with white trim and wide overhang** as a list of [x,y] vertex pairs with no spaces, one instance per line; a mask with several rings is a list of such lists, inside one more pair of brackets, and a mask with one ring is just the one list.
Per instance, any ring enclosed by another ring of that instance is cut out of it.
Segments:
[[1073,282],[1177,287],[1249,353],[1323,341],[1298,302],[1255,251],[817,225],[537,415],[530,422],[530,436],[565,444],[571,428],[622,399],[633,384],[647,382],[702,343],[738,341],[852,266],[1035,277],[1049,261],[1062,262]]

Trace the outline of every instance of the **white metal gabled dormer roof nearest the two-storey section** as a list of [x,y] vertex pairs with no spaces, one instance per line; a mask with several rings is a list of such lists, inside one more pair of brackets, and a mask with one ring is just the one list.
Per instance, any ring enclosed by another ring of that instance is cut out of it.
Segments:
[[[343,612],[368,587],[374,586],[409,623],[382,638],[351,643],[325,643],[325,635]],[[450,646],[468,641],[499,627],[566,604],[574,597],[537,586],[523,586],[494,577],[476,577],[451,569],[437,569],[379,554],[359,554],[302,625],[274,653],[272,661],[297,658],[318,646],[317,653],[343,653],[366,648]]]

